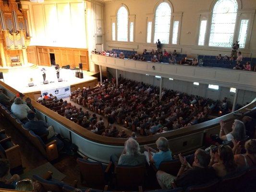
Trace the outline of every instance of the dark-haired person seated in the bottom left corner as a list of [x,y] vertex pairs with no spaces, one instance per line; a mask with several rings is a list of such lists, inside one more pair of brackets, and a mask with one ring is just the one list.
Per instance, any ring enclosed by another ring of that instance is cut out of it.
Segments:
[[0,188],[15,189],[15,183],[20,180],[20,176],[15,174],[11,179],[7,179],[10,175],[10,163],[7,159],[0,159]]

